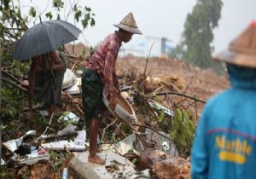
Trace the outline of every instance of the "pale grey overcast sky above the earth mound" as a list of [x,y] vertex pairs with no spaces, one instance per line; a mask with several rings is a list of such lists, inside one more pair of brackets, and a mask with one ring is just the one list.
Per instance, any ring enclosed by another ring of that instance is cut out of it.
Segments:
[[[41,11],[47,7],[46,0],[33,1]],[[30,0],[26,2],[31,4]],[[223,2],[222,17],[218,28],[214,30],[212,43],[216,50],[225,49],[252,20],[256,20],[255,0]],[[154,41],[152,51],[157,55],[160,52],[160,40],[157,38],[172,40],[172,46],[179,42],[186,16],[192,12],[196,0],[80,0],[79,3],[90,7],[96,14],[96,26],[85,29],[80,41],[95,46],[116,29],[113,24],[119,23],[126,14],[132,12],[143,35],[133,36],[131,42],[124,44],[125,49],[144,48],[142,54],[145,55]],[[82,29],[81,26],[79,28]]]

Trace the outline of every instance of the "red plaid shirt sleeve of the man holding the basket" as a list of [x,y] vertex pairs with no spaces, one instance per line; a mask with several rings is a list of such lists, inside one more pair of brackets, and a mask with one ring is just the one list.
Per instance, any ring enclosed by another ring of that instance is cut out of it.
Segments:
[[106,63],[104,67],[104,81],[105,90],[107,95],[115,95],[116,90],[114,88],[114,81],[116,80],[115,74],[115,61],[119,47],[115,43],[110,43],[108,47],[108,53],[106,55]]

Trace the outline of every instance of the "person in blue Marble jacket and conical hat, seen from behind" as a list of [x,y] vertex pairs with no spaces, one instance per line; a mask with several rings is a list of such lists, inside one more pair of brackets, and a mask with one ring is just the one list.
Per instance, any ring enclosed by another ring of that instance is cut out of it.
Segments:
[[231,87],[207,101],[191,151],[191,178],[255,178],[256,21],[213,59],[226,63]]

